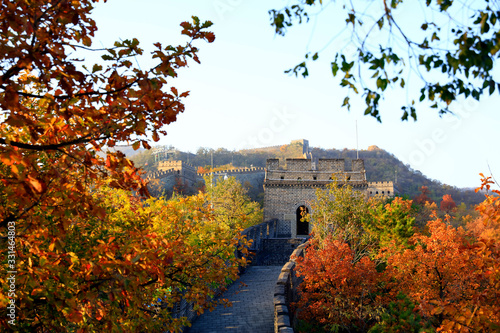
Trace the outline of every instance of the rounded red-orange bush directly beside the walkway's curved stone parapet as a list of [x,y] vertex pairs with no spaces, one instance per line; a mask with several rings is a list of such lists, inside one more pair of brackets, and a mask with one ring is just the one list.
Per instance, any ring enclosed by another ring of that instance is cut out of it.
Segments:
[[319,241],[313,238],[305,257],[296,259],[297,275],[303,278],[294,305],[299,320],[308,323],[307,332],[366,332],[382,312],[375,263],[367,256],[357,258],[341,240]]

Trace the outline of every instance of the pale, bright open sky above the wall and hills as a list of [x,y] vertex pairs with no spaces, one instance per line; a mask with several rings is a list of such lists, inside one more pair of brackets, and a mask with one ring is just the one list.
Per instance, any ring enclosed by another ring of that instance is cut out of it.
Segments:
[[[346,40],[332,39],[345,28],[344,18],[327,7],[309,23],[278,36],[268,10],[289,2],[108,0],[97,4],[92,15],[99,29],[93,46],[138,38],[147,55],[155,42],[184,44],[179,24],[192,15],[214,23],[210,30],[215,42],[196,44],[201,64],[193,62],[171,82],[180,91],[189,90],[190,96],[185,112],[166,128],[168,134],[158,144],[193,153],[200,147],[238,150],[296,139],[325,149],[376,145],[427,177],[457,187],[479,186],[480,172],[500,174],[494,145],[500,125],[498,95],[481,102],[460,100],[451,108],[455,114],[443,117],[419,106],[416,122],[400,119],[406,98],[401,91],[386,93],[382,123],[364,116],[362,104],[348,111],[341,107],[347,91],[330,70],[335,52],[349,47]],[[401,15],[405,23],[418,24],[411,8]],[[316,50],[322,52],[308,78],[284,73]],[[144,68],[153,64],[146,57],[137,61]]]

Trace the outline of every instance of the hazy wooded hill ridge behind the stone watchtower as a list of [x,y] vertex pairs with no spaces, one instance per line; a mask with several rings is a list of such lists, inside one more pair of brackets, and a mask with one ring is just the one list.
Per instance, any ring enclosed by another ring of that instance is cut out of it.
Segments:
[[[185,153],[168,147],[171,151],[168,158],[182,160],[195,167],[209,167],[213,160],[214,166],[232,165],[234,167],[265,167],[268,158],[300,158],[303,156],[303,147],[299,141],[292,141],[291,144],[273,146],[268,148],[258,148],[250,150],[229,151],[224,148],[207,149],[200,148],[196,154]],[[356,151],[343,149],[322,149],[309,148],[313,158],[343,158],[349,164],[349,160],[356,158]],[[404,165],[391,153],[371,146],[367,150],[359,151],[359,158],[365,162],[365,169],[368,181],[396,181],[396,186],[402,195],[414,198],[420,194],[420,188],[427,186],[431,192],[431,198],[439,203],[445,194],[450,194],[455,202],[464,202],[467,205],[476,205],[483,201],[484,195],[475,193],[471,189],[459,189],[446,185],[438,180],[431,180],[420,171],[413,170]],[[157,161],[151,151],[143,151],[131,157],[138,166],[144,167],[146,171],[154,171],[157,168]],[[156,158],[158,159],[158,157]],[[251,184],[253,191],[263,191],[262,185]],[[257,193],[252,193],[253,197]]]

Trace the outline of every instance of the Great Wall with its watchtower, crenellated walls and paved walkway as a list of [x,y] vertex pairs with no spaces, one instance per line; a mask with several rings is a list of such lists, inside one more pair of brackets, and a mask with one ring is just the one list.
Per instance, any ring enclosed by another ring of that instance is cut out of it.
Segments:
[[[306,141],[306,140],[302,140]],[[349,184],[367,196],[394,196],[392,181],[366,181],[364,161],[344,159],[312,159],[308,143],[303,142],[302,159],[268,159],[265,168],[232,168],[212,173],[198,173],[196,168],[182,161],[161,161],[158,171],[148,175],[150,180],[167,180],[196,186],[204,182],[203,176],[235,177],[241,183],[245,176],[254,177],[257,186],[264,189],[264,222],[245,229],[252,240],[249,251],[253,254],[239,281],[234,282],[224,297],[233,307],[216,308],[197,317],[189,304],[179,303],[179,314],[193,320],[191,333],[203,332],[294,332],[293,312],[290,303],[297,300],[300,278],[295,273],[295,259],[304,255],[305,242],[311,226],[301,219],[302,211],[311,210],[316,189],[325,188],[336,181]],[[173,186],[173,185],[172,185]],[[293,256],[291,257],[293,253]],[[246,287],[241,289],[238,283]]]

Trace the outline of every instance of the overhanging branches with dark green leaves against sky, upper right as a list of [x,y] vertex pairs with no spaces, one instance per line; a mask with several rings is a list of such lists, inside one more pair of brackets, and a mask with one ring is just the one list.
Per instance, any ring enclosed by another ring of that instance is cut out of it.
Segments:
[[[402,119],[416,120],[419,102],[428,102],[443,114],[459,98],[480,100],[498,89],[494,73],[500,20],[491,1],[464,6],[459,1],[439,0],[422,4],[294,0],[269,11],[271,25],[277,34],[285,35],[293,25],[308,22],[311,12],[319,18],[327,15],[322,13],[327,6],[335,14],[330,21],[339,22],[330,33],[339,51],[328,59],[328,71],[348,89],[342,104],[347,108],[353,95],[361,95],[364,114],[381,121],[381,101],[388,91],[402,89],[407,95]],[[324,57],[325,48],[307,53],[304,61],[287,72],[308,76],[310,62]]]

